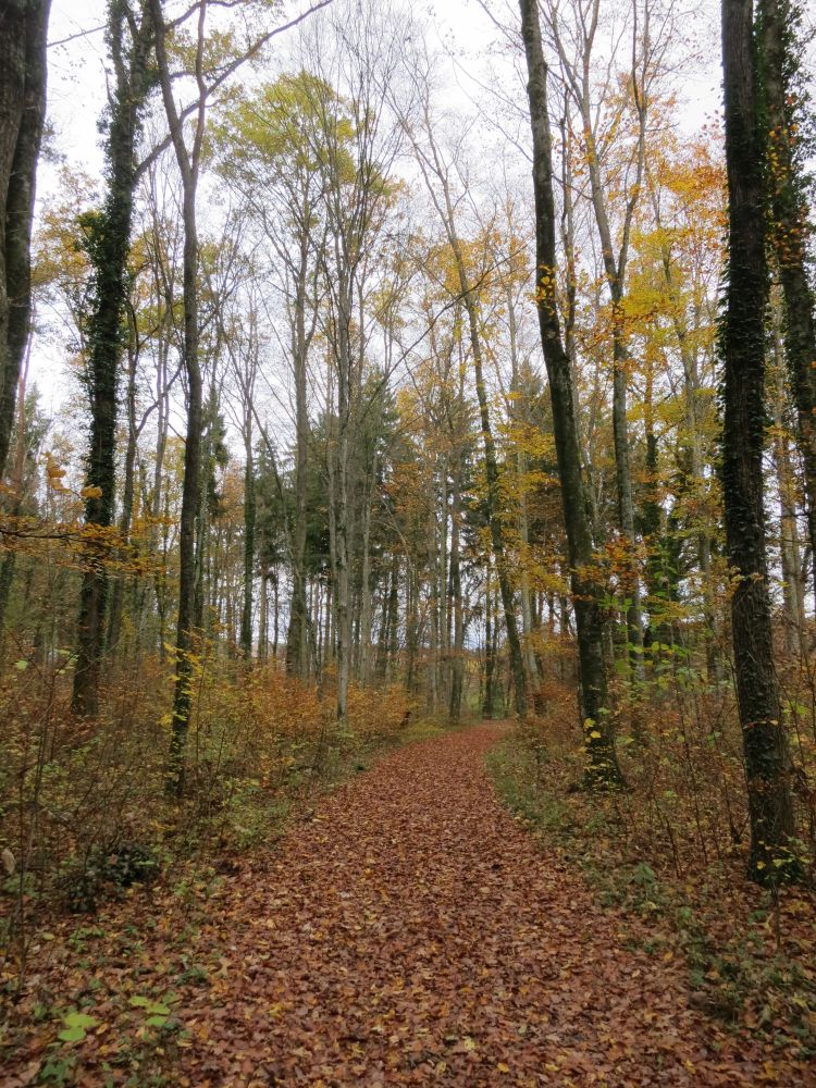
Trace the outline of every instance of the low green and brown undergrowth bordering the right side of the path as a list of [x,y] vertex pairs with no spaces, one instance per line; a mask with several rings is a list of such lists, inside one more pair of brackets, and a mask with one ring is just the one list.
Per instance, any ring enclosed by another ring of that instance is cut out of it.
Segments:
[[683,957],[695,1004],[771,1043],[793,1043],[804,1058],[816,1055],[812,891],[749,883],[742,843],[709,851],[705,862],[681,851],[695,831],[680,826],[679,806],[671,833],[650,837],[633,761],[629,791],[591,796],[574,787],[574,754],[548,744],[541,722],[516,729],[487,757],[503,801],[544,852],[578,868],[598,901],[621,913],[629,940],[657,959]]

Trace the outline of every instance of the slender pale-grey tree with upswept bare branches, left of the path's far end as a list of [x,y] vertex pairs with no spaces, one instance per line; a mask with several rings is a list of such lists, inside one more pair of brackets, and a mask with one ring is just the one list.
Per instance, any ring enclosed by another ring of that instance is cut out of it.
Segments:
[[[332,27],[334,42],[325,40]],[[324,334],[331,353],[327,407],[330,536],[335,581],[336,716],[346,722],[351,676],[351,565],[357,531],[354,430],[369,410],[364,395],[371,319],[367,300],[378,279],[374,246],[385,231],[390,173],[399,133],[383,89],[393,78],[398,35],[393,14],[371,4],[337,5],[329,22],[312,26],[306,51],[320,81],[307,90],[312,140],[322,184],[326,245],[320,251]]]

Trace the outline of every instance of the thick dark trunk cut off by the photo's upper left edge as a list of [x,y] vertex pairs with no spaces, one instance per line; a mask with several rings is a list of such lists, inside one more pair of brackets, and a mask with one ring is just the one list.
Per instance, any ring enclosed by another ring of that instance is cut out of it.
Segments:
[[34,191],[46,114],[51,0],[0,4],[0,480],[28,338]]

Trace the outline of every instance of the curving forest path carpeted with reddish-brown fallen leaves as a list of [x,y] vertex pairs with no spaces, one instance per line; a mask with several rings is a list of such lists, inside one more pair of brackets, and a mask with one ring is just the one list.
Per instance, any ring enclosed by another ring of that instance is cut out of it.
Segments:
[[761,1046],[690,1009],[680,964],[625,949],[503,807],[484,766],[500,731],[387,756],[236,878],[228,934],[213,904],[197,939],[222,970],[178,1009],[175,1083],[765,1081]]

